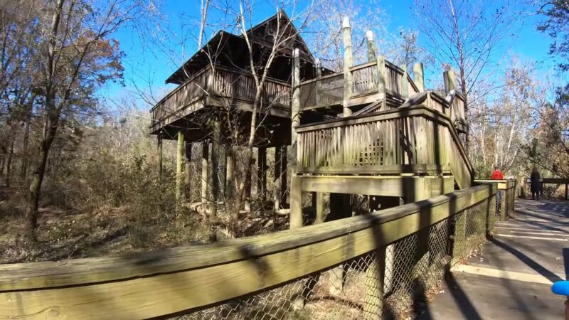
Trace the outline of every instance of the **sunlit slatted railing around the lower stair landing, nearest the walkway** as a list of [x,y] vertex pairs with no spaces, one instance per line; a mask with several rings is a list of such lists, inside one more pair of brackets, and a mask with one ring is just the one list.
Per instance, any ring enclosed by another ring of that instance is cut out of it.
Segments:
[[357,174],[381,166],[450,166],[460,188],[474,171],[450,119],[427,106],[334,119],[297,127],[297,171]]

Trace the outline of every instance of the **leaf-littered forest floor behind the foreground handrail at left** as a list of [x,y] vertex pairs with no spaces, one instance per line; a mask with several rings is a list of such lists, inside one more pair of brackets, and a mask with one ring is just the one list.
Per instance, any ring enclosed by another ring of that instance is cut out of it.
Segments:
[[[122,255],[206,242],[204,215],[188,208],[170,216],[141,216],[128,205],[91,210],[45,206],[39,210],[37,242],[26,240],[25,204],[18,188],[0,187],[0,264]],[[223,220],[223,210],[219,213]],[[240,219],[238,237],[286,227],[267,213]],[[220,228],[218,238],[235,235]]]

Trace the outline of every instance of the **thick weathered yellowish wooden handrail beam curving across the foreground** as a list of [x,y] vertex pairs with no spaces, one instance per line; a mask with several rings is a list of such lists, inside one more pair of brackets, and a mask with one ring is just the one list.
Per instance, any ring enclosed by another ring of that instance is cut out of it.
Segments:
[[201,309],[385,247],[495,193],[494,186],[475,186],[381,213],[211,245],[2,265],[0,319],[142,319]]

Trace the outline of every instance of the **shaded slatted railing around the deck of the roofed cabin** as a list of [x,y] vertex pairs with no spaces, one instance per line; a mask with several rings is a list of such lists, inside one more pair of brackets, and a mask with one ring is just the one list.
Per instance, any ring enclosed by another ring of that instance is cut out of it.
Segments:
[[[263,105],[280,105],[289,108],[290,85],[268,78],[262,93]],[[208,66],[193,75],[162,98],[150,112],[153,120],[151,131],[161,127],[172,114],[183,110],[203,97],[227,97],[252,103],[255,100],[255,82],[252,75],[243,70],[231,70]]]

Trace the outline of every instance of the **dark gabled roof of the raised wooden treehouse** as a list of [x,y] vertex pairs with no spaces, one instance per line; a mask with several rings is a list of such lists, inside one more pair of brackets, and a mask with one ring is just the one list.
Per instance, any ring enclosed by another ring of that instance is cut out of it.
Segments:
[[[250,39],[252,39],[252,46],[262,47],[267,45],[268,41],[262,41],[262,38],[267,34],[267,32],[270,33],[270,29],[267,30],[267,28],[276,28],[277,18],[279,17],[281,18],[281,23],[288,25],[290,32],[296,34],[296,36],[294,36],[294,41],[292,41],[291,44],[295,48],[299,48],[301,52],[301,59],[313,65],[314,57],[312,57],[312,53],[310,53],[307,44],[298,34],[297,28],[295,28],[290,22],[285,11],[279,11],[274,16],[265,19],[265,21],[258,23],[256,26],[253,26],[246,31],[248,36],[250,36]],[[216,60],[216,63],[220,65],[231,66],[236,60],[243,58],[246,53],[248,53],[248,47],[243,35],[238,36],[226,31],[218,31],[218,33],[216,33],[208,43],[194,53],[181,68],[170,75],[170,77],[166,79],[166,83],[183,83],[188,79],[188,76],[193,75],[199,70],[205,68],[206,65],[210,64],[211,60]],[[282,55],[291,56],[292,48],[283,48]]]

